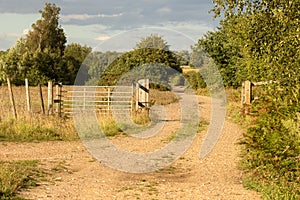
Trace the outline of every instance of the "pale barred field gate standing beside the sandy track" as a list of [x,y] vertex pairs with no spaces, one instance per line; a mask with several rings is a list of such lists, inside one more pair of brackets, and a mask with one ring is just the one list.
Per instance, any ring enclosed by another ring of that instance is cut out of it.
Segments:
[[124,114],[132,111],[133,86],[69,86],[61,89],[61,112],[95,111]]

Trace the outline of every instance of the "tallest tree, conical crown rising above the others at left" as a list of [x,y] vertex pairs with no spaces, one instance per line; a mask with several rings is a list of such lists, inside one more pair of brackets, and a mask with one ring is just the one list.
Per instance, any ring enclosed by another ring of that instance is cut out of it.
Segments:
[[31,52],[40,51],[62,56],[67,42],[65,33],[59,26],[60,8],[46,3],[44,10],[39,11],[42,18],[32,24],[33,30],[27,35],[27,46]]

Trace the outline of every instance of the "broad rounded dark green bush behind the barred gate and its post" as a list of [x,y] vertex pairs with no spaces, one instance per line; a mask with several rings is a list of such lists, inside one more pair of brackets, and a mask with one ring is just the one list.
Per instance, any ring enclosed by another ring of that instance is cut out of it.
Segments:
[[[145,68],[142,66],[145,65]],[[151,70],[149,67],[153,68]],[[105,68],[100,80],[99,85],[115,85],[120,80],[120,78],[125,75],[130,70],[141,67],[139,69],[144,71],[133,71],[132,76],[128,77],[132,81],[137,81],[144,75],[151,74],[151,77],[156,77],[157,80],[166,80],[174,72],[170,72],[168,67],[182,72],[179,61],[176,56],[171,51],[165,51],[162,49],[135,49],[133,51],[127,52],[117,59],[115,59],[107,68]],[[162,68],[166,70],[161,70]],[[171,74],[170,74],[171,73]],[[138,77],[134,77],[134,74],[138,74]],[[155,82],[155,81],[154,81]]]

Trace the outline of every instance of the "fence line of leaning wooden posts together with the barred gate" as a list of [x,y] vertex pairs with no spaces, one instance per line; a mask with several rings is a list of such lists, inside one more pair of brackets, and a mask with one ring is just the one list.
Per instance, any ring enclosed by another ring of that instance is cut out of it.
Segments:
[[137,103],[136,110],[149,107],[149,80],[139,81],[136,88],[134,84],[117,87],[67,86],[53,84],[51,81],[48,82],[48,87],[40,84],[32,87],[28,80],[25,80],[25,86],[8,86],[0,87],[0,120],[28,113],[45,114],[45,108],[48,115],[60,116],[92,109],[104,114],[128,113],[133,111],[134,101]]

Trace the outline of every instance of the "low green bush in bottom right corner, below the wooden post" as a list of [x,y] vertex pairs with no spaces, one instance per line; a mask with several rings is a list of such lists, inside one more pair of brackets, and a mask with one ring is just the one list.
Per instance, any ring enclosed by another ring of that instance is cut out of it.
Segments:
[[300,129],[297,120],[284,119],[274,113],[262,114],[242,141],[246,147],[243,167],[251,180],[247,185],[262,191],[266,199],[300,198]]

